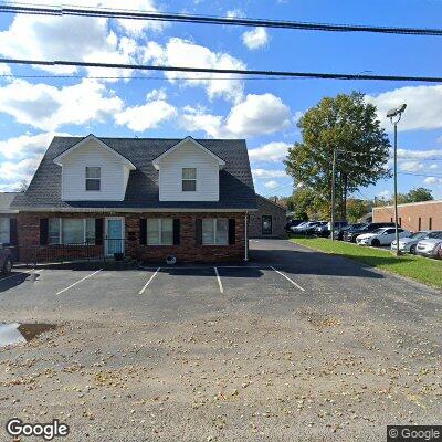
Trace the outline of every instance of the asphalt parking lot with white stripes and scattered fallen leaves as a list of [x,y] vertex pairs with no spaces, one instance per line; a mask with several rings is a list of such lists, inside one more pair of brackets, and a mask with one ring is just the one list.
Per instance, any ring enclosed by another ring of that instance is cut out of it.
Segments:
[[[0,411],[66,440],[378,441],[440,423],[441,293],[284,240],[238,265],[15,270]],[[8,440],[1,434],[1,440]]]

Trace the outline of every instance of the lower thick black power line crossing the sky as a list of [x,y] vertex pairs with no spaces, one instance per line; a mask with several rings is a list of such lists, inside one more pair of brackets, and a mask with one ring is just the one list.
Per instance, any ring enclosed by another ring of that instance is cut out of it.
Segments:
[[[0,63],[24,64],[40,66],[77,66],[77,67],[107,67],[120,70],[138,71],[165,71],[165,72],[199,72],[211,74],[238,74],[238,75],[263,75],[263,76],[284,76],[292,78],[319,78],[319,80],[372,80],[372,81],[394,81],[394,82],[428,82],[442,83],[440,76],[408,76],[408,75],[372,75],[372,74],[337,74],[319,72],[291,72],[291,71],[265,71],[265,70],[232,70],[217,67],[185,67],[185,66],[159,66],[144,64],[118,64],[118,63],[98,63],[80,61],[44,61],[44,60],[20,60],[20,59],[0,59]],[[183,78],[186,80],[186,78]]]

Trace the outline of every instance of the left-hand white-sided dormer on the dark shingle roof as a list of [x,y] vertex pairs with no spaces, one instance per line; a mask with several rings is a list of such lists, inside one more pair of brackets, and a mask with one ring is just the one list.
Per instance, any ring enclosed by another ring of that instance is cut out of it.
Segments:
[[[135,167],[93,136],[55,158],[65,201],[123,201]],[[86,190],[86,167],[99,168],[99,190]]]

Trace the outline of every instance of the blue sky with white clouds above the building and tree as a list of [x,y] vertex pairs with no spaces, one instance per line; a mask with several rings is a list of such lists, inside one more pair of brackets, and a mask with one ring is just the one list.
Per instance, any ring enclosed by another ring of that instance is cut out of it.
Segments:
[[[54,0],[36,2],[56,4]],[[408,0],[406,7],[399,0],[72,0],[64,4],[417,28],[438,28],[442,17],[442,2],[433,0]],[[440,76],[441,43],[441,36],[0,13],[0,57],[13,59]],[[244,80],[4,64],[0,64],[0,191],[14,190],[32,178],[54,135],[92,133],[98,137],[245,138],[256,191],[288,196],[294,183],[282,161],[287,148],[301,140],[299,116],[325,96],[359,91],[378,106],[390,139],[391,125],[385,115],[407,103],[399,124],[399,191],[425,187],[442,198],[439,84]],[[392,181],[382,180],[355,196],[391,193]]]

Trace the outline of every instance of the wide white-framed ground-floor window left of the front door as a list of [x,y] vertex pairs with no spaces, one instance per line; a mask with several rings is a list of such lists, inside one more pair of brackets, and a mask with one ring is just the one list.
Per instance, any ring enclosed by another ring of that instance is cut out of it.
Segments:
[[95,244],[95,218],[50,218],[49,244]]

